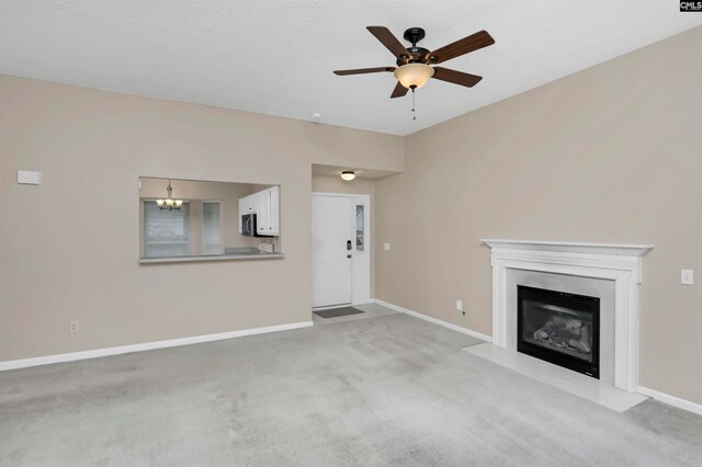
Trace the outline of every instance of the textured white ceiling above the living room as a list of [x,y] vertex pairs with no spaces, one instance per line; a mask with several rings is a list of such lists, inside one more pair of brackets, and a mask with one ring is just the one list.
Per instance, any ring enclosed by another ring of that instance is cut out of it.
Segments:
[[[332,75],[394,65],[367,25],[496,44],[442,64],[485,78],[431,80],[414,122],[392,73]],[[0,72],[406,135],[699,25],[673,0],[0,0]]]

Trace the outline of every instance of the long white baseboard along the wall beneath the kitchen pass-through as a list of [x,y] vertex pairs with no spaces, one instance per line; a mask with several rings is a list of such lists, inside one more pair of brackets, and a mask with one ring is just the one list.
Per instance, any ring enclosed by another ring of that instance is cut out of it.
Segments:
[[312,321],[293,322],[290,324],[269,326],[265,328],[244,329],[241,331],[220,332],[217,334],[195,335],[192,338],[170,339],[168,341],[145,342],[143,344],[121,345],[116,348],[95,349],[82,352],[60,353],[37,356],[33,358],[11,360],[0,362],[0,372],[30,366],[48,365],[52,363],[75,362],[78,360],[97,358],[100,356],[120,355],[124,353],[141,352],[155,349],[176,348],[180,345],[200,344],[203,342],[220,341],[223,339],[244,338],[246,335],[264,334],[268,332],[287,331],[291,329],[308,328]]

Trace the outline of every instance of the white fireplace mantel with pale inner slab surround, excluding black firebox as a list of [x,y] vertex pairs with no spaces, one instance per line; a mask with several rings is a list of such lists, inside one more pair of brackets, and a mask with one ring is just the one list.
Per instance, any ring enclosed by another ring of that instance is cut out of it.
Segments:
[[[491,249],[492,344],[517,352],[517,285],[600,298],[599,381],[629,392],[638,387],[638,288],[652,244],[483,240]],[[534,274],[522,281],[518,273]],[[567,282],[544,277],[571,277]],[[595,280],[591,286],[580,283]],[[611,293],[600,294],[610,284]],[[565,285],[565,287],[563,286]],[[513,342],[512,342],[513,341]],[[513,344],[512,344],[513,343]],[[518,353],[518,352],[517,352]],[[578,376],[578,375],[573,375]]]

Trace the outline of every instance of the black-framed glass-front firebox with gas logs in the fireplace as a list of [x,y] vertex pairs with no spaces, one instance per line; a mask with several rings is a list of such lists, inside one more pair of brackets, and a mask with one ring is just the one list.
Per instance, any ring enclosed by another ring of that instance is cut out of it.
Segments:
[[517,350],[600,378],[600,299],[517,286]]

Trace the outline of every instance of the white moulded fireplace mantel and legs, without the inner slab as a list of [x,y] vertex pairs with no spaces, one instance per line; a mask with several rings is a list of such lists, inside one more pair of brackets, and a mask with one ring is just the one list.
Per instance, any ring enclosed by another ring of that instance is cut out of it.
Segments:
[[[636,392],[638,371],[638,286],[642,257],[650,244],[581,243],[484,239],[491,248],[492,344],[508,348],[508,271],[522,270],[614,282],[614,381]],[[567,292],[567,291],[564,291]]]

